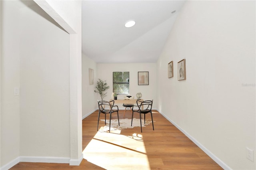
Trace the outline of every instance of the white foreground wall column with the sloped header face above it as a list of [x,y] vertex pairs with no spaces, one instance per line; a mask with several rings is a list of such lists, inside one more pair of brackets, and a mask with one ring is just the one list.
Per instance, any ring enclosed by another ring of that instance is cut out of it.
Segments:
[[[70,165],[79,165],[82,155],[82,1],[34,0],[70,34],[69,115]],[[57,25],[57,24],[56,24]],[[66,162],[66,161],[65,161]]]

